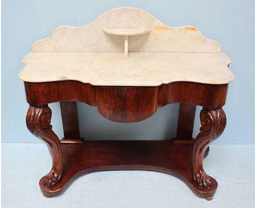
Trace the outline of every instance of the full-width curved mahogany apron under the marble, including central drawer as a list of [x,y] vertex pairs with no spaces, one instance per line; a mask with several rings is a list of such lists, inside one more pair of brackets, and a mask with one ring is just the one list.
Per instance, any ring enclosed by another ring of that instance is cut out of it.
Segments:
[[[222,107],[228,84],[173,82],[156,87],[102,87],[78,81],[57,81],[25,82],[25,90],[27,102],[33,106],[79,101],[97,106],[98,112],[110,120],[131,123],[153,115],[155,105],[162,107],[184,102],[209,108]],[[135,114],[137,110],[141,115]]]

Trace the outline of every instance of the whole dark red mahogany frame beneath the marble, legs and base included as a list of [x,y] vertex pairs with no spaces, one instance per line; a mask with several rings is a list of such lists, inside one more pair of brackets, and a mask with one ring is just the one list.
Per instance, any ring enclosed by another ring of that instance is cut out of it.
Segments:
[[[202,166],[208,145],[222,134],[228,84],[173,82],[156,87],[104,87],[78,81],[25,82],[28,130],[45,141],[53,167],[39,182],[46,197],[53,197],[80,175],[101,170],[153,170],[177,176],[199,197],[211,200],[217,181]],[[65,139],[50,125],[48,103],[61,102]],[[121,123],[149,118],[158,107],[180,102],[177,139],[170,141],[85,141],[79,138],[75,102],[97,106],[103,117]],[[201,128],[192,138],[196,105]]]

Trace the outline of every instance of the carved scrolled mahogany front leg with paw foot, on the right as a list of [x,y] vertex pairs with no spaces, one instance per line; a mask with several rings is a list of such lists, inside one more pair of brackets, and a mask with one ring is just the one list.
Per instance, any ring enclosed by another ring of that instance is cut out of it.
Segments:
[[207,189],[212,187],[212,178],[203,170],[203,155],[208,145],[224,131],[226,115],[222,108],[209,109],[203,107],[200,112],[200,121],[202,126],[193,148],[193,174],[195,182],[202,188]]

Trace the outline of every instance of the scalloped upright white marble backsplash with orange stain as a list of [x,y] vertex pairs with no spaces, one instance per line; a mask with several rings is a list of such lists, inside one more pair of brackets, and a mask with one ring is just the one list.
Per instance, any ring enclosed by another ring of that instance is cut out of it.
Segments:
[[197,28],[168,27],[136,8],[109,10],[82,27],[60,26],[34,42],[32,52],[123,52],[124,36],[106,34],[103,28],[150,28],[149,33],[129,36],[129,52],[221,52],[220,44]]

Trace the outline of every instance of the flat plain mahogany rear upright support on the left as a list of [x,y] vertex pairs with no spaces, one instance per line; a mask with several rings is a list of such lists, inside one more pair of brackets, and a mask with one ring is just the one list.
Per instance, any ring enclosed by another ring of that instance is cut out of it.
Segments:
[[60,108],[64,139],[80,140],[77,102],[61,101]]

